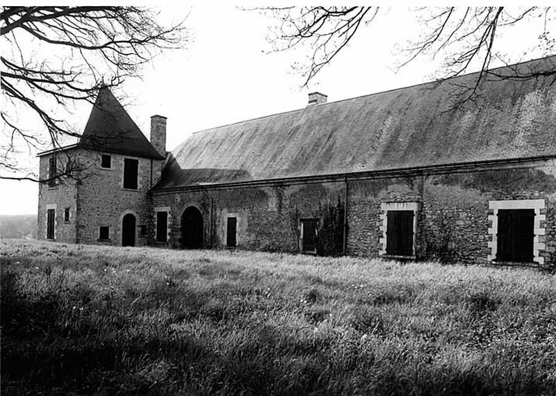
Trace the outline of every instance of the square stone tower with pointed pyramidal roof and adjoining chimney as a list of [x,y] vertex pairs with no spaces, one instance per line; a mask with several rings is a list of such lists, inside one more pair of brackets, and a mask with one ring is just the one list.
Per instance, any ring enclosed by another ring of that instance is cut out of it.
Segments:
[[166,119],[151,117],[151,142],[106,86],[81,139],[40,157],[38,237],[103,245],[147,245],[147,192],[165,161]]

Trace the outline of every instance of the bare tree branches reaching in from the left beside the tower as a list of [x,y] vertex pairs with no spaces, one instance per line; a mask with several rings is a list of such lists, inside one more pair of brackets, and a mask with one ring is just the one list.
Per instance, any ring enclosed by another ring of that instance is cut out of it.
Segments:
[[[59,148],[64,138],[79,138],[60,117],[62,109],[93,102],[101,85],[120,85],[161,50],[183,47],[184,20],[163,26],[156,17],[153,10],[122,6],[2,8],[0,178],[37,180],[33,172],[21,176],[18,147],[50,142]],[[42,132],[26,128],[22,115],[30,114]]]

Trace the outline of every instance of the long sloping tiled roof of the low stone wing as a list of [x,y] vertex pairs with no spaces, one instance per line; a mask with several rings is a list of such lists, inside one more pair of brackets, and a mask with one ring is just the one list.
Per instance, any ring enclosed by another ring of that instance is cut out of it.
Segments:
[[[556,56],[494,69],[556,68]],[[489,74],[477,103],[453,109],[477,74],[193,133],[156,188],[556,156],[554,76]]]

